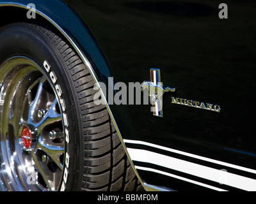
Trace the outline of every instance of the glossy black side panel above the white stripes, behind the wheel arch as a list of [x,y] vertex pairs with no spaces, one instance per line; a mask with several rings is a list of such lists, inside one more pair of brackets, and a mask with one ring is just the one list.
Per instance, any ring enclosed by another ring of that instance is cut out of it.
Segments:
[[[228,19],[218,17],[214,0],[66,2],[116,82],[143,82],[150,68],[161,68],[163,84],[179,87],[164,94],[163,119],[148,105],[111,106],[124,138],[256,168],[253,1],[225,1]],[[174,105],[171,96],[218,104],[221,112]]]

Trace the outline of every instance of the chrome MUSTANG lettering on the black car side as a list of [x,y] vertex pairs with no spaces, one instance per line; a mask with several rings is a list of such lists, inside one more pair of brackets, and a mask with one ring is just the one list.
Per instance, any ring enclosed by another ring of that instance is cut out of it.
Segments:
[[213,105],[211,103],[204,103],[204,102],[193,101],[193,100],[188,100],[183,98],[172,97],[172,103],[194,107],[194,108],[201,108],[204,110],[211,110],[218,113],[220,113],[220,110],[221,110],[219,105]]

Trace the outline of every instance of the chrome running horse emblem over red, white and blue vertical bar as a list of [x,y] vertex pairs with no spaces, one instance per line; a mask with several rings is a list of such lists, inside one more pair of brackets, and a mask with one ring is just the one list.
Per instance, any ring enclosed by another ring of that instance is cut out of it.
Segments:
[[150,82],[145,81],[142,83],[141,91],[148,90],[153,115],[163,117],[163,94],[169,91],[175,92],[177,88],[163,87],[160,69],[150,69],[150,79]]

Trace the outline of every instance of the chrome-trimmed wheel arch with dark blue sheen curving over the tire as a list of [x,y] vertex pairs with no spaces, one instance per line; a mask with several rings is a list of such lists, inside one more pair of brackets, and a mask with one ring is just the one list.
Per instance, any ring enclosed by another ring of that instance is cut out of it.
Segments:
[[[127,152],[122,134],[120,133],[120,129],[118,129],[116,120],[113,116],[113,112],[107,103],[107,96],[104,95],[104,91],[100,88],[99,82],[108,84],[108,77],[113,77],[113,75],[109,69],[108,62],[104,58],[97,41],[93,38],[88,27],[86,27],[84,22],[76,15],[76,13],[74,13],[74,11],[72,11],[65,3],[58,0],[45,0],[44,4],[40,0],[33,1],[33,4],[36,6],[36,19],[28,19],[26,13],[29,11],[29,8],[27,8],[29,3],[28,0],[13,0],[8,1],[8,3],[0,1],[0,17],[6,19],[4,22],[0,23],[0,27],[22,20],[25,20],[26,22],[29,22],[29,20],[31,20],[31,22],[40,20],[51,25],[54,29],[58,29],[61,36],[68,40],[70,45],[76,50],[79,57],[81,57],[81,60],[89,69],[93,80],[95,81],[95,84],[97,84],[100,94],[106,103],[109,116],[111,117],[120,141],[122,142],[125,154],[144,189],[147,191],[155,190],[155,188],[148,187],[144,184],[136,171],[136,168],[134,168],[134,164]],[[15,13],[15,15],[13,15],[13,13]],[[8,17],[6,17],[6,15],[8,15]],[[106,93],[107,92],[108,90]]]

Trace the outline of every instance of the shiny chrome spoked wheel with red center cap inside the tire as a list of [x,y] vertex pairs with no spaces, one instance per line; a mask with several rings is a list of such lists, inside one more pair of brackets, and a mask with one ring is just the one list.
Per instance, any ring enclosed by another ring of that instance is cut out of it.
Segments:
[[56,93],[26,57],[0,66],[0,190],[56,191],[65,141]]

